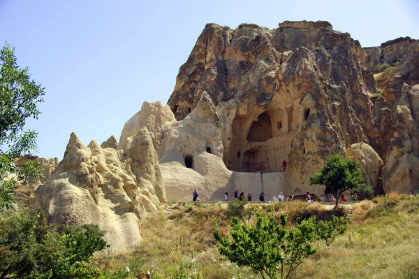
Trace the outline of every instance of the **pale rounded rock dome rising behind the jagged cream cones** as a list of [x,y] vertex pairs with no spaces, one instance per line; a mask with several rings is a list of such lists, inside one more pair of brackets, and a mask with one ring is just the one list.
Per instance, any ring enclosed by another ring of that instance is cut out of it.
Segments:
[[163,106],[160,101],[154,103],[145,101],[142,103],[141,110],[125,123],[119,138],[118,149],[122,148],[126,138],[135,136],[142,127],[147,128],[152,136],[154,148],[157,148],[165,131],[165,125],[171,122],[176,122],[176,120],[167,105]]

